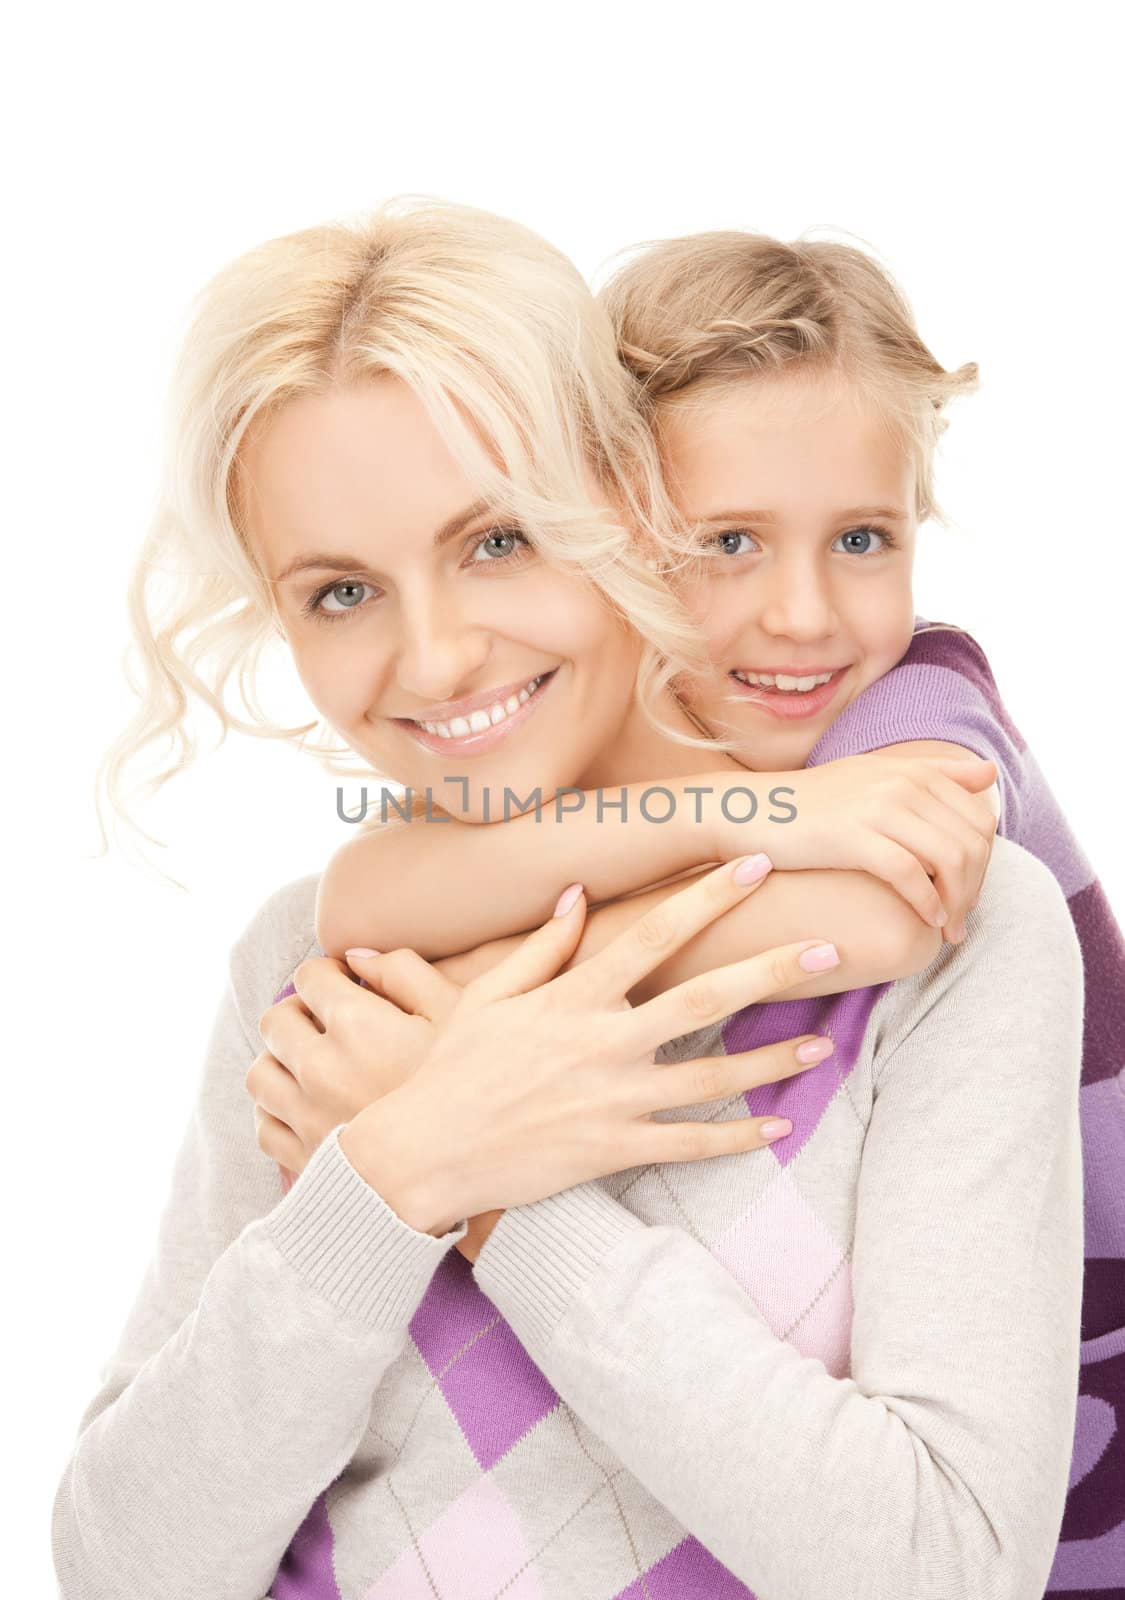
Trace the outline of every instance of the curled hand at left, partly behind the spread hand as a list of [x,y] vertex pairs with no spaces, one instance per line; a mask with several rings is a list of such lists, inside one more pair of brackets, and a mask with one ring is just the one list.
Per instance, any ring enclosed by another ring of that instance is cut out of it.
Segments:
[[[293,974],[296,995],[258,1022],[269,1048],[251,1062],[246,1090],[258,1146],[288,1170],[290,1184],[338,1123],[405,1083],[461,994],[413,950],[350,950],[349,965],[368,989],[341,962],[312,957]],[[333,1027],[322,1030],[328,1011]],[[462,1256],[477,1259],[501,1214],[470,1219]]]

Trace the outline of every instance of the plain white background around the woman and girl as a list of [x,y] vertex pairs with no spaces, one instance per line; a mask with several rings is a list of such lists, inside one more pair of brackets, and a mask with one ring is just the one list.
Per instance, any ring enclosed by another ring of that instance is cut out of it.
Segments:
[[943,446],[955,528],[923,531],[919,610],[984,643],[1125,917],[1120,128],[1099,10],[24,8],[3,256],[13,1592],[53,1592],[50,1502],[155,1238],[227,947],[346,835],[334,779],[234,734],[149,816],[189,893],[93,859],[189,296],[266,237],[408,190],[510,213],[591,274],[706,227],[858,235],[944,365],[983,374]]

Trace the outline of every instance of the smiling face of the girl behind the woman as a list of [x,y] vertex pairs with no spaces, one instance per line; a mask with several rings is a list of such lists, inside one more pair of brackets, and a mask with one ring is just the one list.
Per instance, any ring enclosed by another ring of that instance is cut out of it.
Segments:
[[680,691],[749,766],[797,770],[911,642],[914,459],[859,392],[802,373],[669,406],[661,456],[707,550],[683,598],[712,670]]

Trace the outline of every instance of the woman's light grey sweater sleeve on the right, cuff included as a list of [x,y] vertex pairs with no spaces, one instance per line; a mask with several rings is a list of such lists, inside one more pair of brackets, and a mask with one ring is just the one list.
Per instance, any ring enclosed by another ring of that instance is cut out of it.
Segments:
[[[848,1376],[771,1331],[701,1242],[690,1182],[683,1226],[594,1184],[517,1206],[475,1278],[755,1594],[1029,1600],[1063,1517],[1082,1298],[1082,962],[1048,870],[997,846],[967,942],[890,990],[869,1038]],[[815,1203],[794,1166],[770,1195],[763,1248],[789,1226],[778,1206]],[[771,1259],[784,1274],[781,1237]]]

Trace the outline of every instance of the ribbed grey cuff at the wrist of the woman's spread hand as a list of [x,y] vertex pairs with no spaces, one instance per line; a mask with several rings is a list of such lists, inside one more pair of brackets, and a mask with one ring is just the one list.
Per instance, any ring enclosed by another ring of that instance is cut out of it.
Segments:
[[469,1224],[462,1219],[434,1238],[403,1222],[341,1150],[344,1126],[317,1146],[264,1227],[290,1266],[339,1310],[371,1328],[400,1328]]

